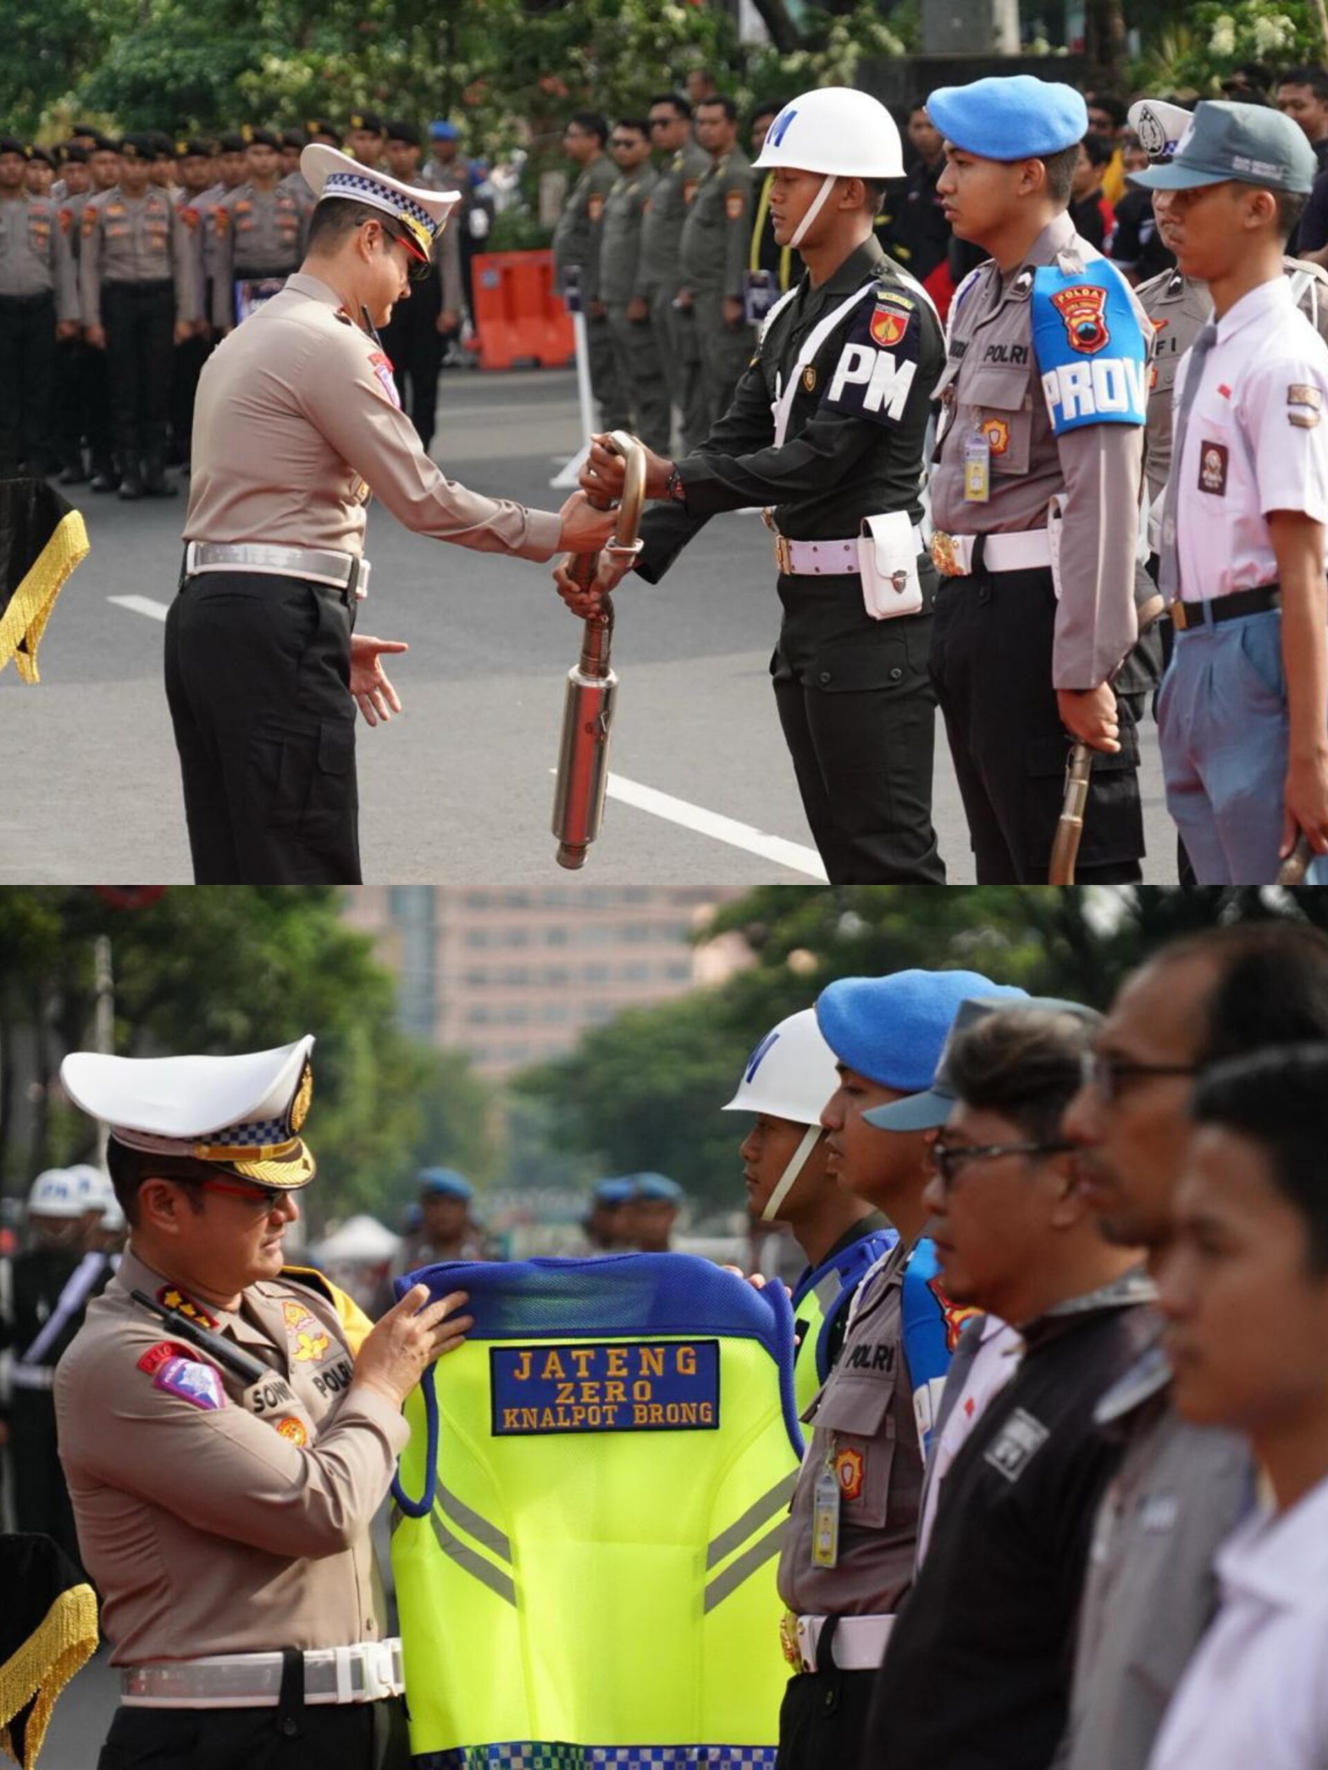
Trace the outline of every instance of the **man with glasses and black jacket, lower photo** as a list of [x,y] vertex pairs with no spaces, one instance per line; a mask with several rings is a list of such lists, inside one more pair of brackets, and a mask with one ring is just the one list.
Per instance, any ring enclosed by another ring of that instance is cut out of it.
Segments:
[[1066,1639],[1116,1460],[1093,1407],[1154,1331],[1139,1255],[1100,1235],[1061,1131],[1096,1020],[1023,1002],[946,1051],[956,1099],[923,1195],[938,1283],[1018,1328],[1023,1356],[949,1466],[862,1765],[1046,1770],[1064,1729]]

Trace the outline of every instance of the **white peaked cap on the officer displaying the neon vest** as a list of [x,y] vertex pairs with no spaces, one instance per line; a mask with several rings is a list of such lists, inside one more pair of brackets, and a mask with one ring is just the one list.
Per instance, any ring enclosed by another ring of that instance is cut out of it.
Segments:
[[71,1051],[66,1092],[126,1149],[191,1156],[264,1186],[313,1179],[299,1138],[313,1097],[313,1037],[243,1057],[104,1057]]

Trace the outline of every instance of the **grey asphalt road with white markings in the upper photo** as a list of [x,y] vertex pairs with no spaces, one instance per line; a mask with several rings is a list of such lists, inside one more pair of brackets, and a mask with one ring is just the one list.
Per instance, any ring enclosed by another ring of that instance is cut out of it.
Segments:
[[[452,478],[556,508],[549,480],[575,446],[570,372],[443,377],[434,455]],[[92,554],[46,630],[41,685],[0,676],[0,883],[188,883],[161,689],[184,496],[122,504],[76,490]],[[365,878],[551,880],[552,768],[579,625],[545,566],[421,540],[384,510],[370,513],[367,552],[359,630],[411,650],[391,667],[404,715],[359,727]],[[712,522],[662,586],[632,577],[616,605],[611,802],[586,881],[820,878],[768,685],[777,600],[760,519]],[[942,853],[951,881],[970,883],[944,733],[937,752]],[[1167,883],[1174,841],[1153,727],[1144,795],[1146,876]]]

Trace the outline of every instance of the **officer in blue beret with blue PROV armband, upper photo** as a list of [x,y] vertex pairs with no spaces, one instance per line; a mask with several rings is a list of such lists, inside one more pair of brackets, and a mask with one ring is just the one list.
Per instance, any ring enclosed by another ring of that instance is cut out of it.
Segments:
[[1151,595],[1135,558],[1151,327],[1064,212],[1087,129],[1073,88],[979,80],[928,113],[954,232],[993,253],[949,310],[931,469],[931,678],[977,880],[1046,880],[1073,740],[1094,750],[1077,876],[1137,880],[1139,742],[1110,678]]

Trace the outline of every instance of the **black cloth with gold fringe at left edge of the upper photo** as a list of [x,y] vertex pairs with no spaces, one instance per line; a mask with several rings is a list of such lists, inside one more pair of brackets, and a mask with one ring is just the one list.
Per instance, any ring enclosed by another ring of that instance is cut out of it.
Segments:
[[0,480],[0,671],[39,681],[37,644],[69,573],[89,556],[83,517],[44,480]]

